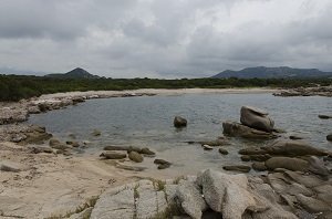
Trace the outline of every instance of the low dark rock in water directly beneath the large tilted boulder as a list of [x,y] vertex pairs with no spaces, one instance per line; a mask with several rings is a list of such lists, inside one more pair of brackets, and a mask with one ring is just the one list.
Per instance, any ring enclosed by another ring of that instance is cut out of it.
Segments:
[[222,123],[224,134],[234,137],[271,139],[278,136],[273,133],[258,131],[235,122]]

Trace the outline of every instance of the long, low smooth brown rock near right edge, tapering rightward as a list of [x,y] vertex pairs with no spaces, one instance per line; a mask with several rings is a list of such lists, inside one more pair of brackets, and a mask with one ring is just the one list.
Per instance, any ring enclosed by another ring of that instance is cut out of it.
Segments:
[[278,140],[270,146],[261,147],[270,155],[281,155],[281,156],[324,156],[328,153],[323,149],[312,147],[300,140]]

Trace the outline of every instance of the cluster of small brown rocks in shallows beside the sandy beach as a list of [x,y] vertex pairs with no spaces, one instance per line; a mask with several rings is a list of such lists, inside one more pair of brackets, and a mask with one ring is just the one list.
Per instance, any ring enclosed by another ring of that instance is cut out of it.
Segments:
[[[134,163],[143,163],[144,157],[155,157],[156,153],[151,150],[147,147],[133,147],[133,146],[106,146],[100,157],[104,159],[115,159],[115,160],[123,160],[128,158]],[[170,167],[172,163],[164,160],[164,159],[155,159],[154,164],[157,165],[158,169],[166,169]],[[135,166],[125,166],[122,164],[116,164],[116,167],[127,170],[134,171],[142,171],[145,168],[143,167],[135,167]]]

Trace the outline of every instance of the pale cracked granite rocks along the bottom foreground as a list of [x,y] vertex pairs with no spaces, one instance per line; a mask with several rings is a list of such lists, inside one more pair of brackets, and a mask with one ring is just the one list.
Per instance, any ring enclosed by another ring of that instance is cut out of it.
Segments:
[[207,169],[197,177],[110,188],[91,218],[330,218],[331,188],[331,180],[297,171],[246,176]]

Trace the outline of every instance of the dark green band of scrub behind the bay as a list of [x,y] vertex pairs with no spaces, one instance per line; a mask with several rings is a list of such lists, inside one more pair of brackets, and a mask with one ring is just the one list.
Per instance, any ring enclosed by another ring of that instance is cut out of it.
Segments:
[[332,79],[54,79],[0,75],[0,101],[19,101],[59,92],[123,91],[137,88],[300,87],[332,84]]

